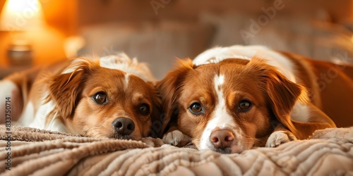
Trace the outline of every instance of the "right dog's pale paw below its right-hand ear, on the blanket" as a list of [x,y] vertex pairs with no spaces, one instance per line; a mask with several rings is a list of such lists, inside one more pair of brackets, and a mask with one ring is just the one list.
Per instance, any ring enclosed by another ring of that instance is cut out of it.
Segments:
[[275,131],[268,137],[266,145],[267,147],[277,147],[280,144],[285,144],[286,142],[297,140],[297,137],[289,131]]

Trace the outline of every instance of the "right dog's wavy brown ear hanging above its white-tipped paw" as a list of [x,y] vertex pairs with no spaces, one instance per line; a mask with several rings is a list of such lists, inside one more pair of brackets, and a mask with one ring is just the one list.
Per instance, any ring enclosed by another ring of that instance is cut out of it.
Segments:
[[265,63],[265,60],[253,58],[250,62],[251,69],[260,72],[261,89],[268,94],[269,106],[275,118],[285,125],[296,137],[299,137],[297,129],[294,127],[290,115],[294,104],[299,101],[307,103],[309,101],[306,88],[287,79],[277,69]]

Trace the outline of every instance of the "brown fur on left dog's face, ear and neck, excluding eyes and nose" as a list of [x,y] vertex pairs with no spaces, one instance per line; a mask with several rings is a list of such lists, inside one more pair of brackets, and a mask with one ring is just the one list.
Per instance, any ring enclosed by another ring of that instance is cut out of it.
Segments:
[[[151,82],[129,75],[126,84],[126,73],[100,67],[99,61],[89,59],[69,65],[68,68],[74,69],[72,73],[61,74],[67,65],[68,62],[55,72],[50,68],[37,71],[32,89],[28,90],[35,111],[41,106],[40,94],[47,92],[45,103],[54,103],[46,124],[56,118],[65,125],[67,132],[88,137],[139,140],[149,136],[152,120],[160,115],[160,98]],[[97,92],[107,94],[108,103],[93,101],[92,96]],[[139,112],[143,104],[150,108],[148,114]],[[128,137],[120,136],[112,127],[112,122],[121,117],[129,118],[135,124]]]

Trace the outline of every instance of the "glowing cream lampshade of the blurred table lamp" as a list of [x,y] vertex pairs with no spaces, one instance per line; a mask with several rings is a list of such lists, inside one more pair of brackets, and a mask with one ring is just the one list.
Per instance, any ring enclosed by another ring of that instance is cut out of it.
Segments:
[[44,15],[38,0],[6,0],[1,11],[0,30],[38,30],[43,26]]

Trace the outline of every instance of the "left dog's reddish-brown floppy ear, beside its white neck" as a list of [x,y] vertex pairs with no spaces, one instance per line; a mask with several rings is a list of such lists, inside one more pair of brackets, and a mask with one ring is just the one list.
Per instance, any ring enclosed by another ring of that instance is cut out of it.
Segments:
[[[99,64],[99,63],[98,63]],[[88,59],[81,60],[68,66],[71,73],[62,73],[54,75],[47,80],[47,89],[49,94],[47,102],[54,101],[54,111],[50,115],[54,117],[53,113],[57,113],[59,118],[70,118],[75,110],[80,99],[80,93],[83,91],[83,84],[85,77],[92,71],[92,68],[97,65]],[[47,118],[49,122],[51,118]]]

